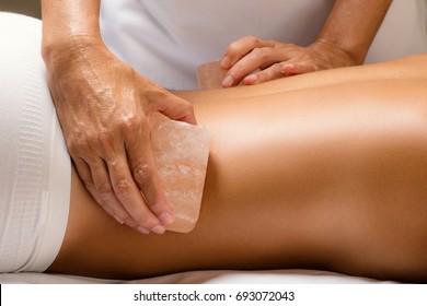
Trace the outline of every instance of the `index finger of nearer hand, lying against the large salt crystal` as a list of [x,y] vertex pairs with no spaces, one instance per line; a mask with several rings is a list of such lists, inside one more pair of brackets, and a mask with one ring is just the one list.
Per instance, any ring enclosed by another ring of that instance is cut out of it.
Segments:
[[148,122],[141,123],[139,133],[127,132],[126,151],[135,181],[150,211],[162,222],[171,224],[174,212],[161,187],[149,139]]

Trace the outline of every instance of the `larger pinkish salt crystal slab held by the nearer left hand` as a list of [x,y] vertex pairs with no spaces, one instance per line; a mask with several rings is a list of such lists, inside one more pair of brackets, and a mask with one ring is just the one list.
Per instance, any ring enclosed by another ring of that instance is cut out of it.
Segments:
[[175,221],[169,231],[188,233],[199,216],[209,155],[209,131],[174,121],[159,113],[150,117],[151,145],[163,190]]

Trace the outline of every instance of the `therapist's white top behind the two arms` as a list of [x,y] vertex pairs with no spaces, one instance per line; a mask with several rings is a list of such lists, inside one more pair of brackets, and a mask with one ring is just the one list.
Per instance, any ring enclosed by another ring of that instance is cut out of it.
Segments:
[[[104,0],[101,27],[120,59],[168,89],[196,89],[196,68],[245,35],[310,44],[334,0]],[[394,0],[368,62],[427,51],[424,0]]]

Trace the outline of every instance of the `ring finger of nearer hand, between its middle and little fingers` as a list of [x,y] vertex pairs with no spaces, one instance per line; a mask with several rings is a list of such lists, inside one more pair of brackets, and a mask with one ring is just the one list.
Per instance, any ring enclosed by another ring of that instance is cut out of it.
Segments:
[[137,228],[143,233],[141,228],[138,228],[139,224],[130,216],[116,198],[104,161],[100,158],[96,162],[92,162],[89,166],[91,167],[93,184],[96,190],[95,200],[99,204],[118,222],[126,223],[128,226]]

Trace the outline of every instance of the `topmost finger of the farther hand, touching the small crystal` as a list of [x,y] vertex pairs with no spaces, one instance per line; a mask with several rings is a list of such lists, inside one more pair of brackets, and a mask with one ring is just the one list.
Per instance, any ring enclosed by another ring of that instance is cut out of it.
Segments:
[[228,70],[253,49],[272,46],[270,42],[255,36],[242,37],[227,47],[221,60],[221,68]]

